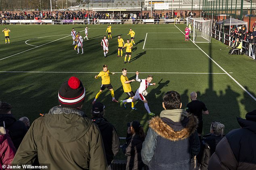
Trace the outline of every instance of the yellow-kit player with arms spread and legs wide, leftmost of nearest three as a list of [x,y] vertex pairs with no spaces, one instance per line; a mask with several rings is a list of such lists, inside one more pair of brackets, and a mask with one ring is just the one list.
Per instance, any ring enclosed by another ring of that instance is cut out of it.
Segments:
[[111,73],[109,72],[109,70],[107,70],[107,65],[103,65],[103,71],[101,71],[97,76],[95,76],[94,78],[102,78],[101,81],[101,88],[100,91],[97,93],[97,95],[95,96],[92,104],[94,104],[97,100],[97,98],[99,98],[99,96],[101,95],[101,93],[103,92],[103,90],[105,90],[105,88],[109,89],[111,92],[111,96],[112,96],[112,101],[113,102],[118,102],[117,100],[115,100],[115,94],[114,94],[114,90],[112,85],[110,84],[110,77],[109,74],[115,74],[115,73]]

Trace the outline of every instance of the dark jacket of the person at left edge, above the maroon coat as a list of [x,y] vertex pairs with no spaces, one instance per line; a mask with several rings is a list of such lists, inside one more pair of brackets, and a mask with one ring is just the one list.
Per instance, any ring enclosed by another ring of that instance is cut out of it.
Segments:
[[27,133],[27,127],[22,121],[17,121],[12,114],[0,114],[0,126],[9,130],[10,137],[18,150],[23,137]]

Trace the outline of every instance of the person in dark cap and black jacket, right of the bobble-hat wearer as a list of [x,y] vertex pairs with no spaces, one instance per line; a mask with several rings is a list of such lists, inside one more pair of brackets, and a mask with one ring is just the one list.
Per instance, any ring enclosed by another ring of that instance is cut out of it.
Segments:
[[115,127],[103,117],[104,114],[104,104],[101,102],[95,102],[92,105],[92,122],[98,125],[101,131],[108,164],[107,170],[111,170],[111,162],[113,161],[113,156],[118,154],[120,143]]

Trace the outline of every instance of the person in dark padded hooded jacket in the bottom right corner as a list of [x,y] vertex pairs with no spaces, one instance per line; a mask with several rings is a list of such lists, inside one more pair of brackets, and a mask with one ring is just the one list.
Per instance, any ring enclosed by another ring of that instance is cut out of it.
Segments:
[[208,170],[256,169],[256,110],[238,118],[240,129],[227,133],[210,158]]

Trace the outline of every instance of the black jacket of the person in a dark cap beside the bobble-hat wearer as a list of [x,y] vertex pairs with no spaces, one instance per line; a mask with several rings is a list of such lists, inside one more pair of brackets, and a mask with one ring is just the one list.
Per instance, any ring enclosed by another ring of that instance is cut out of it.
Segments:
[[94,117],[92,118],[92,122],[99,126],[105,147],[107,164],[111,164],[113,156],[118,154],[120,147],[119,137],[115,127],[105,118]]

